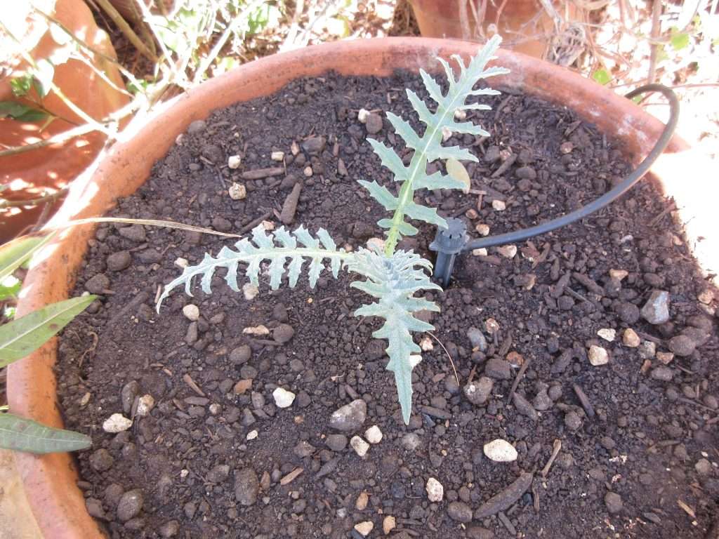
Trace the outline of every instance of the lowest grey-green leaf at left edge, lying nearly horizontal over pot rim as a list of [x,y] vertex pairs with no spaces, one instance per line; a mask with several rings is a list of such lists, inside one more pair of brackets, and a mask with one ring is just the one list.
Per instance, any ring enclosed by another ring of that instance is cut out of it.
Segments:
[[37,421],[9,413],[0,413],[0,447],[28,453],[79,451],[92,440],[71,430],[46,427]]

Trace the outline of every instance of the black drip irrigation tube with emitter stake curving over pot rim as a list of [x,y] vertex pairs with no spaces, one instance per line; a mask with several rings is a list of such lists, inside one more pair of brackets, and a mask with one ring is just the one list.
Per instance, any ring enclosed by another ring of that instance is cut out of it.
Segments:
[[528,229],[520,229],[505,234],[498,234],[497,236],[487,236],[486,238],[470,239],[470,236],[467,234],[467,225],[464,224],[462,219],[448,218],[446,220],[447,228],[438,228],[434,241],[429,245],[429,249],[437,252],[437,259],[434,264],[434,279],[438,280],[443,287],[446,287],[446,285],[449,284],[449,279],[452,277],[454,260],[457,258],[457,255],[462,252],[481,249],[482,247],[511,244],[533,236],[539,236],[539,234],[546,234],[546,232],[557,230],[562,228],[562,226],[572,224],[574,221],[579,221],[591,213],[604,208],[631,189],[631,187],[649,171],[651,165],[654,165],[656,158],[667,148],[674,134],[674,129],[677,127],[677,121],[679,121],[679,101],[672,89],[667,88],[667,86],[647,84],[646,86],[640,86],[636,88],[636,90],[629,92],[625,97],[631,99],[634,96],[649,92],[659,92],[667,98],[667,101],[669,101],[669,121],[667,125],[664,126],[664,131],[661,132],[656,144],[654,144],[654,148],[651,149],[651,152],[649,152],[631,174],[615,185],[611,190],[608,190],[602,196],[595,199],[595,201],[587,204],[587,206],[582,206],[582,208],[578,210],[547,221],[546,223],[530,226]]

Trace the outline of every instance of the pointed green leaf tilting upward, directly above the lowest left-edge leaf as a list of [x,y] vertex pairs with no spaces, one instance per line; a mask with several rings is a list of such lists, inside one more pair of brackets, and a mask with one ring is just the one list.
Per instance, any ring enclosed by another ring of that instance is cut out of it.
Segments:
[[0,367],[40,348],[96,298],[87,295],[52,303],[0,326]]

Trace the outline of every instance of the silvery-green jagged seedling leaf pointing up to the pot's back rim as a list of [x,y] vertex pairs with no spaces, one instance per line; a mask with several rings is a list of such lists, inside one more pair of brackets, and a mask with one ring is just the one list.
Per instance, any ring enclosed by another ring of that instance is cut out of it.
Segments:
[[360,182],[367,188],[372,198],[382,204],[385,210],[394,212],[392,219],[380,221],[380,226],[388,229],[387,240],[385,241],[385,252],[388,255],[394,252],[402,236],[417,233],[416,227],[406,223],[405,216],[430,224],[445,223],[444,218],[439,216],[436,211],[429,210],[429,208],[426,208],[426,210],[419,209],[421,206],[414,202],[415,190],[422,188],[466,188],[465,183],[458,182],[453,178],[436,173],[428,175],[427,165],[434,160],[477,161],[477,157],[472,155],[468,149],[458,146],[443,146],[442,139],[445,133],[472,134],[480,137],[489,135],[485,129],[475,125],[472,121],[456,121],[454,114],[457,110],[490,109],[486,104],[467,103],[466,101],[467,98],[472,96],[495,95],[498,93],[490,88],[475,90],[474,87],[483,78],[508,73],[508,70],[504,68],[487,68],[487,62],[493,58],[499,43],[500,38],[498,36],[493,37],[467,64],[464,63],[461,57],[453,55],[452,60],[459,67],[458,73],[454,73],[446,60],[437,58],[444,68],[449,86],[444,95],[439,83],[424,70],[420,70],[427,93],[429,93],[432,101],[436,103],[433,111],[415,92],[407,90],[407,97],[413,109],[425,125],[421,136],[412,129],[407,121],[391,112],[387,113],[390,124],[404,140],[406,147],[415,150],[408,166],[404,165],[400,156],[393,149],[386,147],[381,142],[368,139],[372,149],[380,157],[382,164],[388,167],[390,172],[393,173],[395,181],[400,183],[398,192],[395,195],[391,190],[376,182]]

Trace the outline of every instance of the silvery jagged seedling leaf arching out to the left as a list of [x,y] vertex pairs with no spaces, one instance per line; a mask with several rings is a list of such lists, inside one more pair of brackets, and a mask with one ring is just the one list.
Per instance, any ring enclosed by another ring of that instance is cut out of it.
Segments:
[[[223,247],[217,257],[206,253],[200,264],[188,266],[183,269],[182,275],[165,285],[160,299],[157,300],[157,310],[160,310],[162,300],[180,285],[184,285],[185,292],[192,295],[192,285],[195,277],[200,277],[203,292],[211,294],[212,276],[219,267],[226,268],[225,281],[235,292],[237,286],[237,273],[240,264],[244,267],[244,275],[253,285],[260,284],[260,269],[263,262],[269,262],[267,273],[270,276],[270,288],[277,290],[285,275],[288,277],[290,287],[297,285],[302,272],[305,259],[310,260],[308,278],[311,287],[316,285],[322,270],[323,261],[329,259],[332,275],[337,277],[344,259],[352,255],[337,249],[334,240],[326,230],[317,231],[318,238],[314,238],[303,226],[290,233],[280,226],[274,234],[267,234],[262,224],[252,229],[252,240],[243,238],[234,245],[234,249]],[[301,247],[298,247],[298,242]],[[287,264],[289,259],[289,264]],[[287,265],[285,265],[287,264]]]

